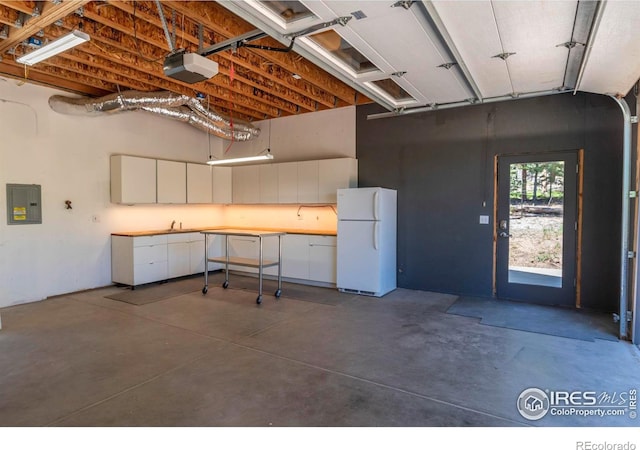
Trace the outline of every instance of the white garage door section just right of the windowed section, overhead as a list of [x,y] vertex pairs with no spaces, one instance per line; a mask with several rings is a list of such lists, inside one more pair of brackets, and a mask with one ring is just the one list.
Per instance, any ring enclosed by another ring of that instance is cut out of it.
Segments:
[[433,2],[483,97],[513,92],[502,53],[493,8],[489,1]]

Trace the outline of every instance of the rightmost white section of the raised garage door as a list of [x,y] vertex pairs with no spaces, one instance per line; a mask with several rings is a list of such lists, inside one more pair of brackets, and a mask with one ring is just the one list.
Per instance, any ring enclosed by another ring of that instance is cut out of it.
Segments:
[[626,95],[640,76],[640,2],[609,1],[578,89]]

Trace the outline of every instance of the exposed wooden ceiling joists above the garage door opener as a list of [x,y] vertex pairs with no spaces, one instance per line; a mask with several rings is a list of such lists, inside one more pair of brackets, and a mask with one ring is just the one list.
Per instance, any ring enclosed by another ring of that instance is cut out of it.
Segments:
[[[199,26],[204,30],[203,47],[254,29],[212,1],[163,1],[162,8],[170,27],[175,21],[176,46],[191,52],[199,48]],[[209,57],[219,67],[213,78],[197,84],[169,78],[163,72],[169,45],[153,1],[0,0],[0,24],[9,30],[7,38],[0,39],[0,74],[15,78],[26,74],[26,81],[77,93],[98,96],[118,89],[202,93],[212,108],[249,121],[369,101],[293,52],[248,48],[220,52]],[[91,36],[90,42],[28,70],[15,63],[31,51],[23,45],[28,38],[53,40],[78,28]],[[271,38],[259,42],[281,47]]]

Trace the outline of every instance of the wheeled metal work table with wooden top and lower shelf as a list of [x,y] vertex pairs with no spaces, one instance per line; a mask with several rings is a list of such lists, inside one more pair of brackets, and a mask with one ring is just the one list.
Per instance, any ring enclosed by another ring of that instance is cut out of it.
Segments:
[[[204,287],[202,288],[202,294],[206,294],[209,290],[209,262],[223,263],[224,267],[224,283],[222,287],[226,289],[229,287],[229,265],[254,267],[258,269],[258,298],[256,303],[259,305],[262,303],[262,271],[265,267],[278,266],[278,289],[274,293],[276,298],[279,298],[282,294],[282,236],[285,232],[282,231],[263,231],[263,230],[239,230],[234,228],[223,228],[218,230],[205,230],[201,231],[204,234]],[[209,235],[218,235],[225,237],[224,256],[209,257]],[[239,258],[236,256],[229,256],[229,236],[250,236],[257,237],[259,245],[258,259],[254,258]],[[278,237],[278,260],[264,260],[262,254],[262,240],[266,237]]]

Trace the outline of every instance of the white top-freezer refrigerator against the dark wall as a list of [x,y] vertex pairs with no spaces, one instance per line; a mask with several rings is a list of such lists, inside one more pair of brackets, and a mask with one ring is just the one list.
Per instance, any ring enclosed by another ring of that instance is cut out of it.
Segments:
[[397,191],[338,189],[337,287],[382,297],[396,288]]

